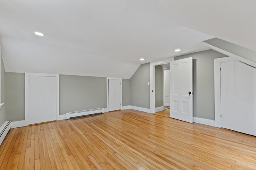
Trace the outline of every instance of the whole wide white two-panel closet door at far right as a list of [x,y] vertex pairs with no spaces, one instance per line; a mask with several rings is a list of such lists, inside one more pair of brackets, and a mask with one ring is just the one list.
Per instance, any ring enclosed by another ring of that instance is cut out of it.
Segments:
[[221,126],[256,136],[256,68],[221,63]]

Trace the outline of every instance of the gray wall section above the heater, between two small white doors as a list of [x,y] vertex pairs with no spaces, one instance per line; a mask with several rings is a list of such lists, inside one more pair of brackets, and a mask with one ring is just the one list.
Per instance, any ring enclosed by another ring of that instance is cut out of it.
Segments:
[[60,115],[106,108],[106,77],[60,75]]

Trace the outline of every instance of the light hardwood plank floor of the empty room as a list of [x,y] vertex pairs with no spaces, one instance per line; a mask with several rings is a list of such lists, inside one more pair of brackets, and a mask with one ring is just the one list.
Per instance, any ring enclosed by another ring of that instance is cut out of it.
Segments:
[[128,109],[11,129],[0,169],[256,169],[256,137]]

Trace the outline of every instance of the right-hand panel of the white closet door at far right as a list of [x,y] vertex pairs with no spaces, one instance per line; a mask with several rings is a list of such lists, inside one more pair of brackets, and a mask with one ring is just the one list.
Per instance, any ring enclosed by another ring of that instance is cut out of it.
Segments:
[[235,61],[235,131],[256,135],[256,68]]

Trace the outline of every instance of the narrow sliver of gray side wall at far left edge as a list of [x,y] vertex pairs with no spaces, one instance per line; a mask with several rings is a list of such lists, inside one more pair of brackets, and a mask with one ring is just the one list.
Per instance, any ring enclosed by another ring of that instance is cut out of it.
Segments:
[[5,69],[4,69],[4,63],[1,56],[1,103],[4,103],[4,105],[0,109],[0,127],[3,125],[3,123],[7,120],[6,119],[6,102],[5,102]]

